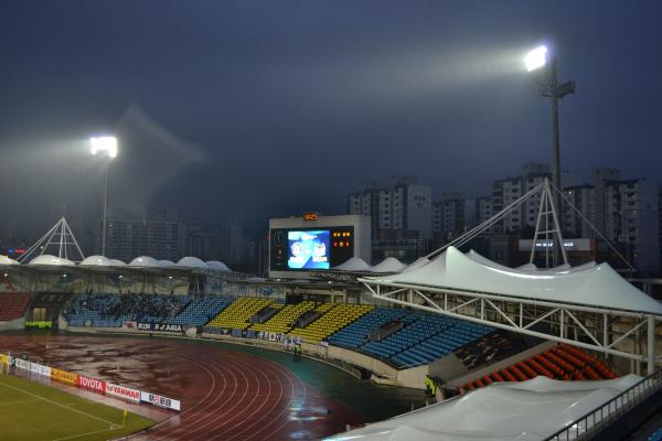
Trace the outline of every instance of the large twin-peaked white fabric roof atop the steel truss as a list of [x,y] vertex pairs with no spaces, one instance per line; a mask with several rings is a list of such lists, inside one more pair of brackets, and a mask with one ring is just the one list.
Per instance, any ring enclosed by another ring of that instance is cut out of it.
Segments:
[[428,265],[370,280],[662,314],[661,302],[630,284],[608,263],[574,272],[519,271],[478,262],[449,247]]

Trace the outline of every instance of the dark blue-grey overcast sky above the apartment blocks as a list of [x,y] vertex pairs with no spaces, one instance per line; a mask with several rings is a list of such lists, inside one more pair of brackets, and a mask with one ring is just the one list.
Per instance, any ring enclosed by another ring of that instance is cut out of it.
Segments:
[[563,168],[660,182],[660,1],[3,1],[2,217],[98,215],[103,132],[115,212],[266,227],[394,174],[489,194],[551,157],[541,43],[577,82]]

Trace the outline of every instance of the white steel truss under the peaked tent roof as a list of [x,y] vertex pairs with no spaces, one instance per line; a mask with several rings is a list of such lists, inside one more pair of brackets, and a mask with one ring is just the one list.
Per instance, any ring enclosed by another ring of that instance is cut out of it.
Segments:
[[[359,279],[372,297],[496,329],[645,363],[654,372],[662,316],[487,292]],[[640,347],[645,336],[645,348]]]

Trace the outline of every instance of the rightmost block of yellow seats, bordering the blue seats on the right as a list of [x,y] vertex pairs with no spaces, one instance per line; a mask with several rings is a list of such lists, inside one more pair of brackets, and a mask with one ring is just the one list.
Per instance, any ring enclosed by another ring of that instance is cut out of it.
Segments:
[[323,303],[316,311],[322,315],[306,327],[295,327],[292,335],[301,337],[307,343],[317,344],[340,329],[369,313],[374,306],[367,304],[333,304]]

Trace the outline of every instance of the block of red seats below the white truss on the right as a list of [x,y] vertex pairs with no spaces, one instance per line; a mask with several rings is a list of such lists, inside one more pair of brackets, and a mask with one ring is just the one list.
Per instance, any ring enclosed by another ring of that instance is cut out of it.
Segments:
[[525,381],[538,375],[563,380],[613,379],[617,377],[613,370],[602,362],[575,346],[559,344],[514,365],[469,381],[462,388],[478,389],[495,381]]

